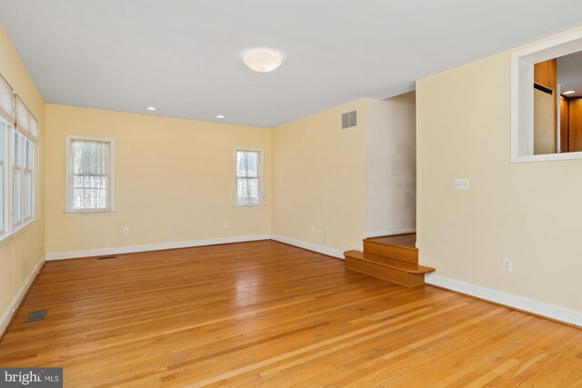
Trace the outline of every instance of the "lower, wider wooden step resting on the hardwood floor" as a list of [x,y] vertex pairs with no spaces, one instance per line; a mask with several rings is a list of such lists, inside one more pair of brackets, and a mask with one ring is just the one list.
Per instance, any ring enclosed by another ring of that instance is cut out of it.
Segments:
[[410,264],[360,251],[346,251],[344,255],[347,269],[406,287],[425,284],[425,274],[435,271],[434,268],[424,265]]

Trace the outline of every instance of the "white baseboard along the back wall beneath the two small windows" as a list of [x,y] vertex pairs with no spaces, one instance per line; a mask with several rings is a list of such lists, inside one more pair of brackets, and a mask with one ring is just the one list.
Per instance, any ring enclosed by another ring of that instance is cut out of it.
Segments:
[[104,256],[108,254],[133,254],[135,252],[160,251],[163,249],[190,248],[193,246],[243,243],[246,241],[268,240],[270,234],[252,234],[234,237],[211,238],[206,240],[178,241],[174,243],[119,246],[115,248],[85,249],[83,251],[51,252],[46,260],[76,259],[80,257]]

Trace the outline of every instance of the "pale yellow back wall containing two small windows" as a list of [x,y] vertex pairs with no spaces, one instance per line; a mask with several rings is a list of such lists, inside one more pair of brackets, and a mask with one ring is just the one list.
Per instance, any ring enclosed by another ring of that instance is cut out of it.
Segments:
[[[270,233],[269,129],[55,104],[45,116],[49,257]],[[64,214],[66,135],[115,139],[115,214]],[[264,150],[264,207],[233,207],[237,146]]]

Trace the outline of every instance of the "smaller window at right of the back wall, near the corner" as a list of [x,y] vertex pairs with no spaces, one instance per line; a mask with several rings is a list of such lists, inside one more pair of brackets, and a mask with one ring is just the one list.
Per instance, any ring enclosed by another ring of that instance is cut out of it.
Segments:
[[261,151],[236,150],[235,205],[263,204],[263,162]]

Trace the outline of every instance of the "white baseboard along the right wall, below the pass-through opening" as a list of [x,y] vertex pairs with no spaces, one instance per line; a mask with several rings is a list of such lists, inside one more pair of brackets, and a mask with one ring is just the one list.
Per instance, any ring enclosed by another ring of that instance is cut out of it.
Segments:
[[567,307],[540,302],[514,293],[505,293],[503,291],[462,282],[438,274],[426,274],[425,282],[427,284],[434,284],[459,293],[467,293],[467,295],[476,296],[477,298],[503,304],[518,310],[547,316],[548,318],[556,319],[557,321],[582,326],[582,312]]

